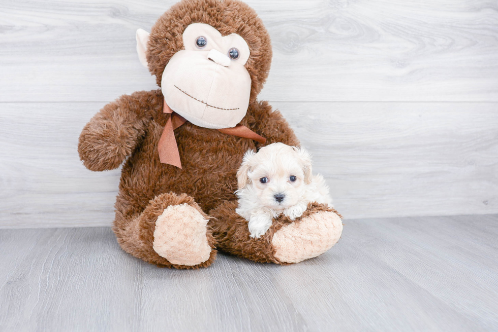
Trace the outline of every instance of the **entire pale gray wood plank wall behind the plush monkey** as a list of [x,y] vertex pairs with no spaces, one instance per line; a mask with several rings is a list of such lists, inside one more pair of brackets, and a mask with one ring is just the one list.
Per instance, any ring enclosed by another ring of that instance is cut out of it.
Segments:
[[[0,1],[0,227],[110,225],[119,171],[79,132],[155,89],[135,53],[175,1]],[[498,212],[498,3],[254,0],[260,99],[289,120],[347,218]]]

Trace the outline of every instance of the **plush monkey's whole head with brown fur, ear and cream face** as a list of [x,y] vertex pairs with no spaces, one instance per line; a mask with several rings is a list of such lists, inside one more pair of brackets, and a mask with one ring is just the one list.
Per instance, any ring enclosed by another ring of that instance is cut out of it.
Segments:
[[149,34],[137,30],[140,62],[168,106],[195,125],[230,128],[268,77],[271,43],[256,12],[238,0],[182,0]]

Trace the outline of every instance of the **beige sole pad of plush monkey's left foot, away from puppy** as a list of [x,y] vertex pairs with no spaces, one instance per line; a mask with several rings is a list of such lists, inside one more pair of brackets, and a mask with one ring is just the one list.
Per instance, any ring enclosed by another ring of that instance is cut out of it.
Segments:
[[152,247],[172,264],[193,266],[209,259],[207,219],[189,204],[170,205],[155,222]]

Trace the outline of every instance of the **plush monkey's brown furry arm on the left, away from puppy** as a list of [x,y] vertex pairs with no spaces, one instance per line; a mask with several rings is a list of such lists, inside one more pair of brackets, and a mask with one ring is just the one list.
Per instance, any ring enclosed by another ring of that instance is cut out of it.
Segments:
[[119,167],[139,145],[161,101],[158,91],[140,91],[105,105],[79,137],[78,153],[85,167],[92,171]]

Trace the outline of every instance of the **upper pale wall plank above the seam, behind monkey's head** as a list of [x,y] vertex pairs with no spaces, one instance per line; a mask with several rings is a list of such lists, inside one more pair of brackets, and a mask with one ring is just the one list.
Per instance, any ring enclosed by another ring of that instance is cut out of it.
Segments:
[[[0,3],[0,101],[149,90],[135,31],[176,1]],[[251,0],[271,35],[272,101],[498,101],[498,4]]]

